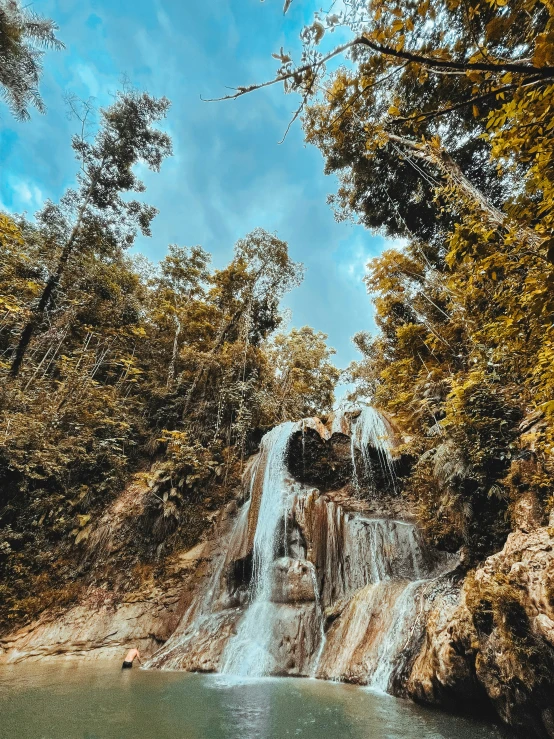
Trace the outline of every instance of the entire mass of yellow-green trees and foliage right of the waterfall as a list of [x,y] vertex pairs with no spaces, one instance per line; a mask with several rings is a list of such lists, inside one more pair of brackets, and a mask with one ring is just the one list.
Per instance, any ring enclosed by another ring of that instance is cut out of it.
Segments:
[[336,217],[405,243],[368,265],[350,379],[408,437],[429,538],[478,561],[523,496],[554,502],[554,6],[345,0],[301,37],[268,83],[300,94]]

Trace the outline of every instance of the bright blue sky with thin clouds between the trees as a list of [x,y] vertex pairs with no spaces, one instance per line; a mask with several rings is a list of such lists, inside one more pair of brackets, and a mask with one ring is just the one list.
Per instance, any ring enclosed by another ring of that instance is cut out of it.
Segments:
[[362,278],[385,241],[334,221],[326,196],[336,182],[324,176],[299,124],[278,144],[296,98],[273,87],[225,103],[200,100],[271,77],[271,53],[298,48],[307,6],[293,2],[283,18],[282,0],[37,0],[35,10],[59,24],[66,50],[45,57],[45,116],[34,112],[20,124],[0,108],[0,207],[32,214],[44,198],[60,197],[76,171],[64,94],[102,105],[125,74],[172,101],[166,128],[175,154],[145,177],[146,200],[160,212],[152,238],[137,249],[158,260],[170,243],[201,244],[223,266],[256,226],[276,232],[306,267],[285,301],[291,325],[327,333],[346,366],[357,356],[352,334],[373,328]]

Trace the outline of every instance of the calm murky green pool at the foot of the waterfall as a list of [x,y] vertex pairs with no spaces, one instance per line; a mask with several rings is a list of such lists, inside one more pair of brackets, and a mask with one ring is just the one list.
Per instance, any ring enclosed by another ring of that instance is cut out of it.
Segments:
[[101,665],[0,668],[2,739],[498,739],[360,688]]

